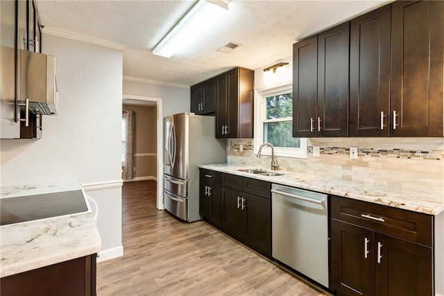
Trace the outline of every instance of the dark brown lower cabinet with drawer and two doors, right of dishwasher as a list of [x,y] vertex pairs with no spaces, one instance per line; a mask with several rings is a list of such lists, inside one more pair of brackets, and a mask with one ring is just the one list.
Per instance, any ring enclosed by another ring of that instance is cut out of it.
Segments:
[[336,295],[434,295],[433,216],[331,197]]

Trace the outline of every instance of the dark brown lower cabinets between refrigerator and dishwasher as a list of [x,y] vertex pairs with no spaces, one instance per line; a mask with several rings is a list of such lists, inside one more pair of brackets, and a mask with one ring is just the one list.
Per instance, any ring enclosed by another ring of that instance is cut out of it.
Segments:
[[271,258],[271,183],[200,169],[203,220]]

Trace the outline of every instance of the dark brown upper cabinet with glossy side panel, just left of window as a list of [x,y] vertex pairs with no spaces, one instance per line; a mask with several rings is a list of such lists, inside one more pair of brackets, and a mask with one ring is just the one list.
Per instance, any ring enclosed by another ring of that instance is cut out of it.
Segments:
[[241,67],[216,76],[216,138],[253,138],[254,81]]

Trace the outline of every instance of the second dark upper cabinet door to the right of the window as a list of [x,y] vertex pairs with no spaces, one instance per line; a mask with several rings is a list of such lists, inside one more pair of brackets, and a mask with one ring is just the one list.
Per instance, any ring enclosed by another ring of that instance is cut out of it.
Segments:
[[318,137],[348,136],[350,22],[318,35]]

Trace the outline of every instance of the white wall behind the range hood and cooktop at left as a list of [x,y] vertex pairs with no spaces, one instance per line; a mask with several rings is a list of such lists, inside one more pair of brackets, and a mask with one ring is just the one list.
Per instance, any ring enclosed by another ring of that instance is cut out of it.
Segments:
[[40,140],[1,140],[1,186],[96,184],[103,249],[121,248],[122,53],[52,35],[42,52],[56,56],[58,115],[44,116]]

